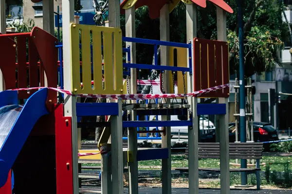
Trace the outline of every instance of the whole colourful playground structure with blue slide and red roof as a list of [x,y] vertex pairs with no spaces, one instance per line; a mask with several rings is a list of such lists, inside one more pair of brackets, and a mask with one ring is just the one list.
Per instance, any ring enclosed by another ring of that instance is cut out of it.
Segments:
[[[221,193],[229,194],[229,65],[225,12],[232,13],[232,10],[222,0],[210,1],[218,6],[218,41],[195,38],[196,6],[206,7],[204,0],[183,1],[186,3],[187,43],[169,42],[169,12],[179,0],[159,3],[125,0],[121,4],[110,0],[110,28],[75,23],[74,0],[62,0],[63,43],[37,27],[29,33],[0,34],[0,53],[4,59],[0,69],[5,81],[0,107],[21,105],[18,117],[12,121],[14,125],[0,145],[0,193],[11,194],[11,181],[14,181],[15,194],[23,191],[78,194],[81,185],[78,183],[80,130],[77,125],[82,123],[83,116],[97,115],[108,116],[108,122],[95,124],[104,127],[98,142],[103,194],[123,193],[125,165],[129,171],[129,193],[137,194],[138,161],[154,159],[162,160],[162,193],[170,194],[172,126],[189,126],[189,193],[198,193],[198,115],[217,114]],[[160,16],[160,41],[135,38],[134,13],[143,5],[149,7],[151,18]],[[119,29],[120,12],[126,14],[125,37]],[[122,48],[123,41],[126,48]],[[153,45],[154,53],[160,46],[161,65],[157,54],[154,65],[136,64],[135,43]],[[177,66],[172,62],[175,49]],[[127,53],[126,63],[122,60],[123,52]],[[58,53],[59,57],[63,56],[63,60],[59,58],[60,89],[57,88]],[[137,94],[140,69],[160,72],[163,94]],[[170,81],[174,72],[178,75],[177,84],[185,86],[184,90],[178,89],[178,94],[171,94],[175,93],[171,89],[174,81]],[[64,103],[57,102],[57,92],[64,96]],[[110,102],[77,102],[77,98],[90,97],[109,98]],[[219,104],[198,104],[198,97],[219,97]],[[173,103],[171,98],[180,98],[183,103]],[[148,103],[139,104],[138,99],[148,100]],[[155,103],[151,103],[152,99]],[[162,121],[137,120],[145,115],[161,115]],[[184,119],[170,121],[170,115],[183,115]],[[123,116],[128,120],[123,121]],[[157,130],[163,134],[162,148],[137,149],[138,133],[150,133],[137,130],[139,127],[162,127],[161,131]],[[123,129],[128,130],[128,148],[124,150]]]

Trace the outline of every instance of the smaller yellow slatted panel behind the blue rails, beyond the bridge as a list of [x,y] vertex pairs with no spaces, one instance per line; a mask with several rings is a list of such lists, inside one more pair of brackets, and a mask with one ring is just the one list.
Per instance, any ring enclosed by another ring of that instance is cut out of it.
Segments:
[[[187,52],[185,48],[169,47],[169,66],[174,66],[175,60],[175,49],[177,50],[177,66],[187,67]],[[178,94],[183,94],[183,73],[181,71],[176,72],[178,75]],[[184,76],[185,88],[187,89],[187,76]],[[170,93],[173,91],[172,73],[169,73],[169,85]],[[186,91],[187,93],[187,91]]]

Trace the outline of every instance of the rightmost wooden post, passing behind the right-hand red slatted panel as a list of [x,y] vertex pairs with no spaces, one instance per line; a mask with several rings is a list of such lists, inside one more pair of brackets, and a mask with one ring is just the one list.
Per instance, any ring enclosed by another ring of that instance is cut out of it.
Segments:
[[[227,40],[226,12],[217,7],[217,39]],[[228,131],[228,98],[219,98],[219,103],[226,104],[226,114],[219,115],[219,140],[220,140],[220,193],[230,194],[229,174],[229,131]]]

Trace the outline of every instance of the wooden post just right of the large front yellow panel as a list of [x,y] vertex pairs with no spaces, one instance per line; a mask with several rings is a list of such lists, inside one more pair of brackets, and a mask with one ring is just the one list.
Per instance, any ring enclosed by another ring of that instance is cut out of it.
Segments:
[[[132,6],[129,9],[125,10],[126,17],[126,36],[127,37],[136,37],[136,28],[135,28],[135,6]],[[136,44],[127,42],[126,46],[130,47],[130,63],[136,63]],[[129,62],[129,59],[127,59]],[[136,69],[131,68],[130,72],[130,93],[137,94],[137,76]],[[136,100],[133,100],[132,103],[136,103]],[[131,120],[137,120],[136,111],[131,111]],[[128,129],[128,151],[131,152],[132,158],[137,158],[137,129],[132,128]],[[138,194],[138,162],[133,160],[128,162],[128,172],[129,172],[129,194]]]

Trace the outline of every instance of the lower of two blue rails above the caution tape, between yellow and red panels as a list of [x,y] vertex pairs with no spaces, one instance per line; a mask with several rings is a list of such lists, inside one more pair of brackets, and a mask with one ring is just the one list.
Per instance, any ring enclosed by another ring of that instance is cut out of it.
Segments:
[[176,67],[176,66],[165,66],[165,65],[146,65],[146,64],[123,63],[123,67],[137,68],[137,69],[169,70],[169,71],[187,71],[187,72],[192,71],[192,69],[190,69],[188,67]]

